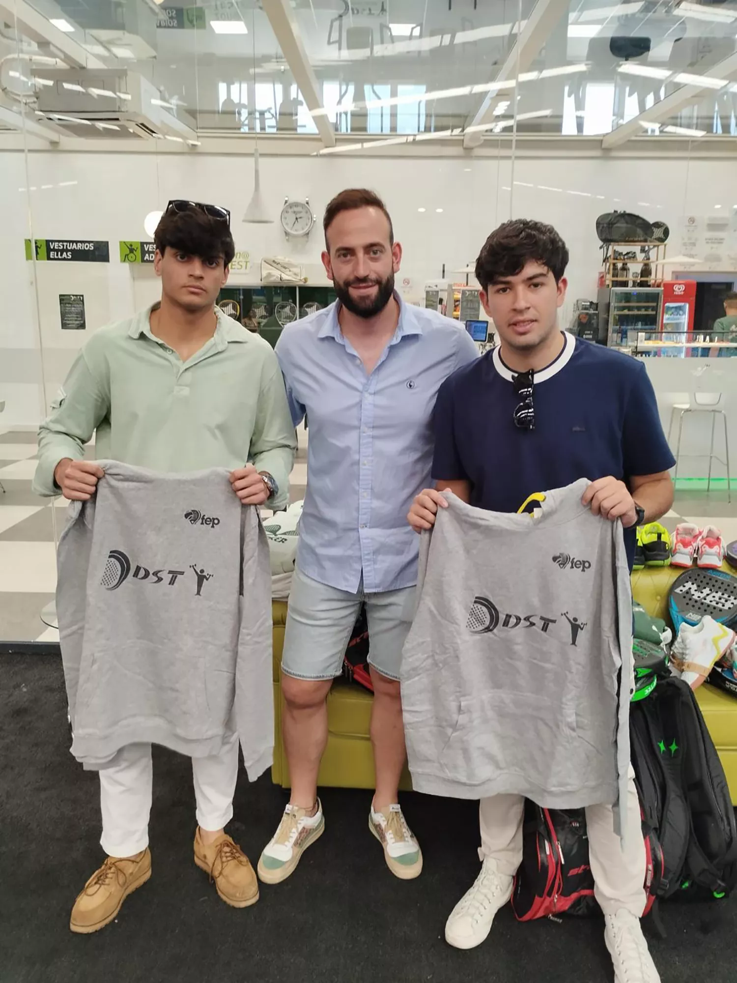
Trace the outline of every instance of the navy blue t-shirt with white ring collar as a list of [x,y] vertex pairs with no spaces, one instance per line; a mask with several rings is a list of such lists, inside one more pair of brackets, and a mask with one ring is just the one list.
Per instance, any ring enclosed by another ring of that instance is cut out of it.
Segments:
[[[496,347],[449,376],[437,394],[435,481],[467,481],[471,504],[516,512],[533,492],[580,478],[666,471],[675,459],[642,362],[564,332],[565,345],[534,376],[535,430],[514,424],[517,396]],[[635,527],[625,529],[630,568]]]

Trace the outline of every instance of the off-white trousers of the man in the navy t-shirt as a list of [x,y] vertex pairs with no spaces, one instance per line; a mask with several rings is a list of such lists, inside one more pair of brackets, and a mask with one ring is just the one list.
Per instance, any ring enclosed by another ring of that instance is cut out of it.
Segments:
[[[522,826],[525,800],[521,795],[494,795],[481,801],[482,845],[479,856],[493,857],[500,874],[513,877],[522,862]],[[629,845],[622,849],[614,833],[610,805],[590,805],[586,810],[589,859],[595,897],[604,914],[626,908],[639,918],[645,909],[645,843],[641,833],[640,802],[635,773],[630,766],[627,792]]]

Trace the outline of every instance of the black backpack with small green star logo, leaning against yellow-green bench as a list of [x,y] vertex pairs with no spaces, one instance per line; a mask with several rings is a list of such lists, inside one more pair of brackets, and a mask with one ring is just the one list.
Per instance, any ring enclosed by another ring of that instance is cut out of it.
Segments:
[[671,676],[630,708],[632,765],[663,855],[659,897],[725,897],[737,829],[724,770],[690,686]]

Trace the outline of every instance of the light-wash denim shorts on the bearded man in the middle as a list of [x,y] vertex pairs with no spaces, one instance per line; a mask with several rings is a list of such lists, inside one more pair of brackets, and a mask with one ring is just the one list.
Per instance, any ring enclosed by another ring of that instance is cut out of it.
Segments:
[[343,657],[361,605],[369,620],[369,665],[389,679],[399,679],[402,649],[415,615],[416,588],[357,594],[319,584],[299,568],[292,578],[282,671],[297,679],[332,679]]

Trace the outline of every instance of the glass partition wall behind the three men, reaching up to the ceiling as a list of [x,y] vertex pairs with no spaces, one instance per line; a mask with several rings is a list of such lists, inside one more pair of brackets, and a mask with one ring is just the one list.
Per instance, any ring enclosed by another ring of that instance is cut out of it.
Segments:
[[[37,427],[85,340],[159,296],[169,199],[231,211],[220,304],[272,344],[334,299],[321,218],[343,188],[385,200],[405,300],[459,321],[482,318],[486,235],[549,222],[561,326],[644,358],[666,429],[702,392],[732,432],[737,339],[714,325],[737,281],[735,5],[7,0],[3,22],[0,645],[58,638],[67,504],[31,489]],[[707,477],[703,423],[682,488]]]

